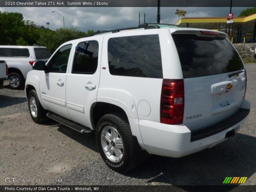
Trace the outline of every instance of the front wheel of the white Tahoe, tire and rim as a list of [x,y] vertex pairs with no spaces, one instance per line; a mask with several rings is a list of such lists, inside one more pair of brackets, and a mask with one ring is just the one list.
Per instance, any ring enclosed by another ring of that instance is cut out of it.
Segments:
[[40,104],[35,90],[28,93],[28,108],[32,120],[35,123],[43,123],[47,120],[46,110]]

